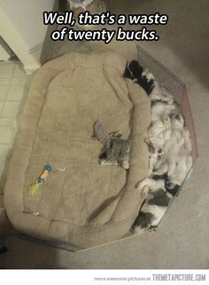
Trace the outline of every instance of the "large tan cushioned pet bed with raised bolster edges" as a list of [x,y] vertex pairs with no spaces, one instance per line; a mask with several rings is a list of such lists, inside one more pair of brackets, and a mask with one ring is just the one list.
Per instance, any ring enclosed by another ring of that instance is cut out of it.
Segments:
[[[36,72],[4,192],[19,232],[81,247],[128,234],[143,202],[135,185],[148,175],[151,106],[143,89],[123,78],[126,63],[113,52],[72,52]],[[97,120],[131,139],[129,170],[99,163],[103,146],[91,138]],[[28,194],[47,163],[52,170],[40,193]]]

